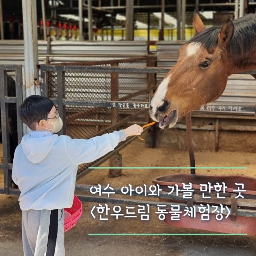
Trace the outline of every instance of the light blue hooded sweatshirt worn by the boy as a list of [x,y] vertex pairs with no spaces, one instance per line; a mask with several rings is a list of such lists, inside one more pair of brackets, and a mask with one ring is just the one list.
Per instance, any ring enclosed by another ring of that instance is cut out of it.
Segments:
[[70,208],[78,166],[114,150],[124,130],[89,140],[48,131],[31,131],[15,150],[12,179],[20,189],[21,210]]

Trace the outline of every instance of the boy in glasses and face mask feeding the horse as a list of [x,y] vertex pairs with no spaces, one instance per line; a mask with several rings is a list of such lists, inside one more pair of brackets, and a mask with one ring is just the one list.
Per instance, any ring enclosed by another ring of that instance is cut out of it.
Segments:
[[78,166],[93,162],[143,129],[133,124],[89,140],[58,136],[54,134],[62,128],[58,110],[50,99],[38,95],[24,100],[19,116],[32,130],[16,148],[12,168],[21,192],[24,255],[64,256],[64,208],[72,206]]

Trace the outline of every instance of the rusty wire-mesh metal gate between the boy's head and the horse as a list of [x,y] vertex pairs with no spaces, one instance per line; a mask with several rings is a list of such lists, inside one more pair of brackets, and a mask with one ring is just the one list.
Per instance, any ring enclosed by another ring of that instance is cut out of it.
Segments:
[[[156,79],[154,73],[140,71],[155,63],[154,57],[139,57],[41,65],[42,95],[58,105],[64,123],[60,134],[89,139],[148,122],[147,108]],[[133,139],[121,142],[100,160],[81,165],[78,178],[90,172],[89,166],[99,165]]]

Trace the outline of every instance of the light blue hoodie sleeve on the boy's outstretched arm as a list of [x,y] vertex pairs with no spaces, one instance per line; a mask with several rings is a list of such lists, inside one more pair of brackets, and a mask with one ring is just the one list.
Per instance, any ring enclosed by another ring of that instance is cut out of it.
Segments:
[[66,142],[67,152],[75,165],[91,163],[104,156],[126,139],[124,130],[106,133],[91,139],[71,139]]

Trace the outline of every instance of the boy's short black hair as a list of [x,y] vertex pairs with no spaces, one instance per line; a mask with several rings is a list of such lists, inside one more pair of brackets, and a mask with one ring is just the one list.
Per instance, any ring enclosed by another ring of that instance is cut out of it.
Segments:
[[35,130],[36,123],[41,118],[48,116],[53,105],[53,102],[47,97],[31,95],[20,105],[19,117],[31,130]]

